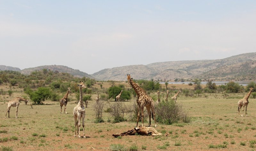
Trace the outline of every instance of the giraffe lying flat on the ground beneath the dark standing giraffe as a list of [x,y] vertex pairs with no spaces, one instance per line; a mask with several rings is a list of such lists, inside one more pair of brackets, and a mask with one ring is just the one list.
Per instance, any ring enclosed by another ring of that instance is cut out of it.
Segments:
[[169,133],[159,133],[156,131],[156,129],[152,126],[149,127],[145,127],[145,126],[139,126],[139,127],[135,127],[132,130],[123,132],[123,133],[116,133],[116,134],[112,134],[112,136],[114,137],[118,137],[118,136],[125,136],[125,135],[135,135],[135,133],[140,134],[140,135],[146,135],[146,136],[167,136]]

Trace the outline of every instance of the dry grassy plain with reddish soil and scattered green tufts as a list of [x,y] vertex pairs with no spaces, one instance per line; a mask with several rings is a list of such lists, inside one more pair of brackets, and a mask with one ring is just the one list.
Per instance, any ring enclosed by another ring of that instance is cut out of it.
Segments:
[[[103,87],[109,87],[107,84],[109,83],[103,83]],[[7,90],[9,87],[2,85],[0,88]],[[192,89],[193,86],[175,85],[175,88]],[[74,137],[72,113],[77,104],[74,94],[68,96],[71,100],[67,105],[68,114],[60,114],[59,102],[46,100],[44,105],[33,105],[33,109],[29,102],[28,105],[21,102],[18,118],[15,118],[15,108],[12,107],[11,118],[7,115],[5,119],[8,101],[26,95],[21,88],[15,88],[11,96],[0,95],[0,150],[255,150],[256,99],[249,98],[248,117],[238,117],[237,102],[245,94],[247,93],[230,93],[226,98],[222,93],[186,97],[181,91],[177,101],[182,105],[183,111],[191,116],[189,123],[157,123],[156,130],[169,133],[167,137],[133,135],[118,138],[114,138],[112,134],[131,130],[136,123],[113,124],[108,122],[111,121],[109,113],[104,111],[105,122],[94,123],[93,105],[96,94],[93,94],[92,101],[89,101],[88,108],[85,109],[86,138],[79,139]],[[150,95],[156,98],[156,94]],[[169,98],[172,95],[174,94],[169,94]],[[165,94],[160,96],[164,100]],[[135,100],[132,97],[132,100],[124,103],[131,105]],[[104,110],[112,103],[116,102],[110,100]],[[147,123],[148,118],[144,121],[145,125]]]

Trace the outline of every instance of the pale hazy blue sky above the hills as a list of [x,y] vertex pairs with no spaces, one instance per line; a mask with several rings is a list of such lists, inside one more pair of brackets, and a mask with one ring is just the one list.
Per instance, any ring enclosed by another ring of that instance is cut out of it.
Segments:
[[0,65],[92,74],[256,52],[255,0],[0,0]]

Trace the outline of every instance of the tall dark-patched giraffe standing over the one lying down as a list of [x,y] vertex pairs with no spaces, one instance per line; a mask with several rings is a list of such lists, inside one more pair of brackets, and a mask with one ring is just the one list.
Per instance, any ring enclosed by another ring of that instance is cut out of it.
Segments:
[[150,109],[151,109],[152,110],[152,118],[155,120],[155,127],[156,127],[156,114],[155,114],[154,100],[146,94],[144,89],[142,89],[141,87],[139,87],[136,83],[134,83],[132,81],[132,78],[131,78],[130,74],[129,75],[127,74],[127,80],[128,80],[128,83],[131,84],[132,88],[135,90],[135,92],[138,96],[138,98],[136,100],[137,105],[138,105],[138,116],[137,116],[137,125],[136,125],[136,127],[138,126],[138,123],[139,123],[140,111],[141,111],[142,126],[144,125],[143,124],[144,106],[148,110],[148,116],[149,116],[149,125],[148,126],[151,125],[151,114],[150,114],[151,113]]

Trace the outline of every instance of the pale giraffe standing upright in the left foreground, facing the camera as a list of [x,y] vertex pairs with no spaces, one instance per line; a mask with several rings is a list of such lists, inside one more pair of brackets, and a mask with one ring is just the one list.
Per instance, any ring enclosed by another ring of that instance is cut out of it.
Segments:
[[[80,84],[77,85],[79,87],[79,91],[80,91],[80,97],[79,97],[79,102],[76,105],[76,107],[74,108],[73,111],[73,116],[74,116],[74,120],[75,120],[75,137],[77,137],[76,135],[76,126],[77,126],[77,134],[78,137],[81,138],[80,136],[80,120],[82,118],[83,121],[83,131],[84,131],[84,117],[85,117],[85,109],[84,109],[84,104],[83,104],[83,92],[82,92],[82,88],[86,88],[83,81],[80,81]],[[84,133],[83,133],[84,136]]]

